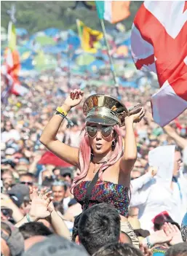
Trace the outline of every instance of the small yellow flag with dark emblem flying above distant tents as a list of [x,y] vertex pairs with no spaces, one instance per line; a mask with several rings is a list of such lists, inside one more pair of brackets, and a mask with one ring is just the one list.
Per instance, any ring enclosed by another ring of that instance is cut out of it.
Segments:
[[84,25],[81,20],[76,20],[81,47],[87,53],[97,53],[96,44],[103,38],[103,33]]

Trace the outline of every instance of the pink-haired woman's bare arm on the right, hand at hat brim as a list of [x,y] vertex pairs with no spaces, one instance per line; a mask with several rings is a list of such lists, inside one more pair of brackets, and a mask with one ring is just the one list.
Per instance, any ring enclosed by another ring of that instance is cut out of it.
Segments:
[[125,117],[126,135],[124,139],[124,155],[120,160],[120,169],[126,174],[132,171],[132,168],[137,159],[137,144],[133,123],[140,121],[144,115],[145,112],[142,108],[137,114],[130,115],[130,117]]

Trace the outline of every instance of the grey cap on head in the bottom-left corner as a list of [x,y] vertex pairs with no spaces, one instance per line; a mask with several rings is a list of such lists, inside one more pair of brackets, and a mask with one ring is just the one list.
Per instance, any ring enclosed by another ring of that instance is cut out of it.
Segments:
[[[9,235],[7,235],[7,232],[4,233],[4,227],[6,227],[5,230],[9,229]],[[19,229],[12,223],[1,221],[1,238],[6,241],[12,256],[20,255],[24,251],[24,238]]]

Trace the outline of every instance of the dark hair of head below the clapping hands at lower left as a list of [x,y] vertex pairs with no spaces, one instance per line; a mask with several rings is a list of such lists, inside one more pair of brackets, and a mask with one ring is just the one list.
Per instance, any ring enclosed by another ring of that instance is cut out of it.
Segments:
[[23,238],[27,239],[32,236],[50,236],[52,231],[49,230],[42,222],[28,222],[20,226],[20,233]]

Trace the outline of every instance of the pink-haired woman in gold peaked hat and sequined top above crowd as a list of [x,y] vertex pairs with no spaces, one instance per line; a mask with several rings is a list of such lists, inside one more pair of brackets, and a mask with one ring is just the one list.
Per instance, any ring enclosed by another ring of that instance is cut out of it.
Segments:
[[[63,106],[57,107],[57,115],[44,128],[40,141],[59,158],[80,169],[73,179],[71,192],[84,209],[90,181],[98,174],[98,182],[92,188],[88,207],[95,203],[111,203],[121,216],[121,230],[128,233],[138,245],[138,238],[128,222],[130,203],[130,172],[137,158],[137,146],[133,123],[139,122],[145,112],[135,107],[131,112],[111,96],[95,94],[84,102],[86,123],[81,132],[79,148],[70,147],[56,139],[57,131],[73,106],[81,103],[83,91],[73,90]],[[68,122],[71,122],[68,120]],[[125,125],[124,150],[120,126]]]

